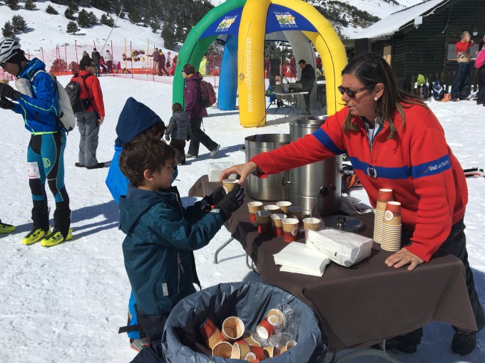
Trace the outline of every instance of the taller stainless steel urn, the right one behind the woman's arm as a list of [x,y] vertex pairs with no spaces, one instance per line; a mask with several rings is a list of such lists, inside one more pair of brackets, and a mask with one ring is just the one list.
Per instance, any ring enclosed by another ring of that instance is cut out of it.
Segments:
[[[292,141],[320,129],[327,116],[300,117],[290,122]],[[290,201],[295,206],[301,206],[305,211],[316,207],[320,214],[332,214],[340,207],[340,189],[342,177],[342,157],[332,157],[322,162],[315,162],[291,169],[290,171]]]

